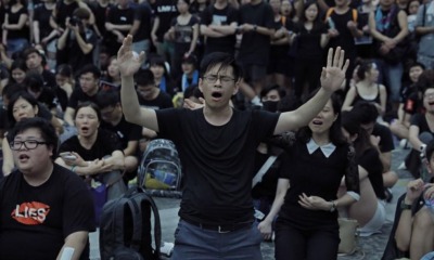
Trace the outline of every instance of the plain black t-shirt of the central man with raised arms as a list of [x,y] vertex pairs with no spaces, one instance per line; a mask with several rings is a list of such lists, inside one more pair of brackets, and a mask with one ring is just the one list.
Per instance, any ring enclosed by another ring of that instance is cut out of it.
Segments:
[[175,143],[186,172],[179,216],[218,224],[253,220],[253,158],[279,114],[234,109],[224,126],[208,123],[203,109],[161,109],[156,117],[159,136]]

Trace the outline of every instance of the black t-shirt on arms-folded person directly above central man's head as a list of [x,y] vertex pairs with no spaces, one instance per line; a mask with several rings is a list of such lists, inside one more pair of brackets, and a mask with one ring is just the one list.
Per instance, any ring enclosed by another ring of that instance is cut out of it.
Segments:
[[[228,4],[225,9],[217,9],[214,5],[207,6],[201,13],[201,24],[203,25],[230,25],[238,22],[238,10]],[[205,52],[229,52],[233,53],[237,42],[235,34],[214,38],[207,37]]]

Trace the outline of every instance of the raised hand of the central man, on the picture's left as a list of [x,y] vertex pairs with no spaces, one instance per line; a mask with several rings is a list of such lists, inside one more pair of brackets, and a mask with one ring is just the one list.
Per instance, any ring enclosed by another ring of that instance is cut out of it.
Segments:
[[128,35],[117,52],[117,64],[122,76],[132,76],[144,62],[145,55],[142,51],[139,55],[132,54],[132,36]]

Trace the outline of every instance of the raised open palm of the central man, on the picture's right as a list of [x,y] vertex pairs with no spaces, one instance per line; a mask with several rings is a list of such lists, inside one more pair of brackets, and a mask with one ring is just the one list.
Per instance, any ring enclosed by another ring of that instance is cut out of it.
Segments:
[[327,91],[336,91],[345,80],[345,73],[349,66],[349,60],[345,61],[345,51],[337,47],[333,54],[333,49],[329,49],[327,55],[327,67],[322,68],[321,87]]

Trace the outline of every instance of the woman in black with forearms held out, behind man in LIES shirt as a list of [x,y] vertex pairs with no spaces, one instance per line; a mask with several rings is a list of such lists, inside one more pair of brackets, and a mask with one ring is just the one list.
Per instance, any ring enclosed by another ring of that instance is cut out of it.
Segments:
[[125,168],[124,154],[117,135],[99,129],[101,113],[95,104],[79,104],[75,115],[78,134],[61,144],[61,156],[55,162],[78,176],[112,184],[107,191],[107,199],[113,199],[126,191],[120,174]]

